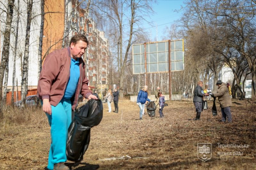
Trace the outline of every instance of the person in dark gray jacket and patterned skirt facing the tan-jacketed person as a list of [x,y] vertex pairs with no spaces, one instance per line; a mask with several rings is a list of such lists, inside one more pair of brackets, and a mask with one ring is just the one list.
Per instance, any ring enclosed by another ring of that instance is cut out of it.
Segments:
[[194,90],[193,103],[196,107],[196,118],[193,119],[193,120],[200,120],[200,115],[201,115],[201,112],[202,112],[203,97],[204,96],[209,96],[209,94],[204,93],[202,87],[203,87],[203,82],[198,81],[197,86]]

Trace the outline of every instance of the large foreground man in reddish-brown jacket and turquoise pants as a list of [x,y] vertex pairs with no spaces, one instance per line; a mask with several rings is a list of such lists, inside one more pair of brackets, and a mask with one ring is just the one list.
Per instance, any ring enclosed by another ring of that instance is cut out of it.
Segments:
[[37,92],[51,126],[52,142],[47,166],[50,170],[69,170],[64,164],[67,161],[66,141],[71,112],[76,109],[79,94],[88,100],[97,100],[88,88],[81,58],[87,46],[84,35],[73,36],[68,48],[55,50],[46,57],[40,73]]

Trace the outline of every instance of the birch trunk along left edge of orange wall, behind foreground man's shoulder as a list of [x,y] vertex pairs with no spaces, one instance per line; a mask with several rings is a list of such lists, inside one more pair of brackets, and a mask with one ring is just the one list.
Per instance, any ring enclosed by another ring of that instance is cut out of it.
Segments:
[[39,48],[38,48],[38,80],[42,70],[42,47],[43,47],[43,33],[44,33],[44,0],[41,0],[41,26],[39,35]]

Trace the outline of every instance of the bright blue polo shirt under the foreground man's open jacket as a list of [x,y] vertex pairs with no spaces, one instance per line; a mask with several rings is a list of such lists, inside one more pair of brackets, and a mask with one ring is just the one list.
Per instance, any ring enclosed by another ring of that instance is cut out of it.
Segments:
[[71,97],[76,92],[76,86],[80,77],[80,70],[79,70],[79,59],[74,60],[71,57],[71,64],[70,64],[70,76],[68,79],[68,85],[66,87],[63,99],[71,99]]

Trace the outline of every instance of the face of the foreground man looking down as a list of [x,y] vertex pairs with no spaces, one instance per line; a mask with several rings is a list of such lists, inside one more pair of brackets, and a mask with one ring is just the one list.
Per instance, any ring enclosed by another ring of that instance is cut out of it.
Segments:
[[87,43],[80,40],[76,44],[73,42],[70,44],[70,53],[73,59],[81,58],[87,48]]

